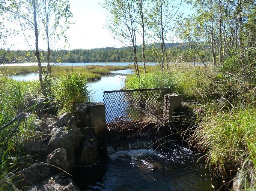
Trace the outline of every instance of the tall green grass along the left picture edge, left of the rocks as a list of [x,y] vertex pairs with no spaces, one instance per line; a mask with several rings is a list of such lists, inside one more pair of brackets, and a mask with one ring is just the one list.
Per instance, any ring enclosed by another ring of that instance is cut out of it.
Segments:
[[[38,96],[40,84],[36,81],[17,82],[0,77],[0,127],[11,121],[18,111],[23,110],[26,100]],[[24,153],[24,142],[34,135],[31,125],[35,116],[0,131],[0,190],[15,190],[12,183],[14,173],[26,167],[28,158]]]

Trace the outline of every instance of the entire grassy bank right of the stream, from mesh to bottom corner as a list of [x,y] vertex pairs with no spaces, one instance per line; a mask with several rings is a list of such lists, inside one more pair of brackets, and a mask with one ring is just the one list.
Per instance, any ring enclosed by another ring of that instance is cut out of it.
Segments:
[[[232,68],[232,67],[231,67]],[[129,76],[127,89],[168,87],[179,93],[197,116],[187,140],[205,154],[216,176],[223,179],[242,169],[244,187],[256,186],[256,89],[226,68],[172,65],[169,71],[150,68]]]

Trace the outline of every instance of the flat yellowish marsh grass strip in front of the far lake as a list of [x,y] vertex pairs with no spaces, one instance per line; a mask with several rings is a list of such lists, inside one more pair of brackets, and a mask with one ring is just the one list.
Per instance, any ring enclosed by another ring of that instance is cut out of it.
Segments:
[[[133,68],[133,65],[128,66],[101,66],[101,65],[87,65],[87,66],[53,66],[51,68],[52,76],[58,78],[65,76],[66,74],[75,73],[83,74],[87,77],[87,80],[94,80],[101,77],[104,74],[110,74],[111,71],[125,70]],[[43,67],[43,73],[46,68]],[[25,74],[37,72],[38,66],[0,66],[0,76],[8,74]]]

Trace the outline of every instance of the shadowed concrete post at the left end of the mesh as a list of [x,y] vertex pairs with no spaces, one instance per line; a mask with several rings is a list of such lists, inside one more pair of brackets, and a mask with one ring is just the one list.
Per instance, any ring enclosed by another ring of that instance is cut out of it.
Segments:
[[105,105],[102,102],[88,105],[90,126],[99,144],[106,142]]

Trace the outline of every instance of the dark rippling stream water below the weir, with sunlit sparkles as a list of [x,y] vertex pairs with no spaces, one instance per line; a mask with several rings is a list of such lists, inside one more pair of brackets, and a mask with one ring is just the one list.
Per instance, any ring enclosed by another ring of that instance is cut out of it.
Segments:
[[158,150],[108,154],[74,178],[82,191],[214,191],[200,156],[172,141]]

